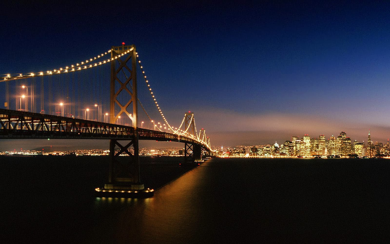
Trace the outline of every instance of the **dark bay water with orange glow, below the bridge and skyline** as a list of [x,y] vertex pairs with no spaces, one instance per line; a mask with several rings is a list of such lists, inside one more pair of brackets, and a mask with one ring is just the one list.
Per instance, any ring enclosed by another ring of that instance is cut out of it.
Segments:
[[390,160],[211,159],[188,171],[154,159],[141,167],[154,197],[124,199],[94,197],[103,157],[12,158],[0,157],[5,243],[390,240]]

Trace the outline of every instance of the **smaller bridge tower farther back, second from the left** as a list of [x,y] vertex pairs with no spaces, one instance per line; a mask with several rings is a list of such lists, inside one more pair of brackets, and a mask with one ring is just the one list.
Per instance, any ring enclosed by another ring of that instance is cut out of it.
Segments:
[[[188,111],[184,118],[184,128],[190,134],[190,137],[193,136],[195,139],[195,122],[194,122],[194,113]],[[200,162],[202,161],[202,148],[199,144],[191,144],[188,142],[184,143],[184,159],[191,162]]]

